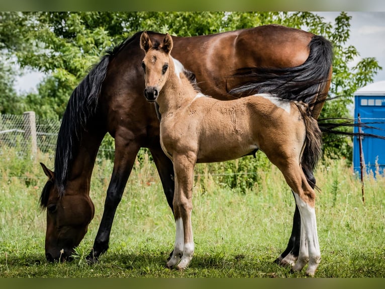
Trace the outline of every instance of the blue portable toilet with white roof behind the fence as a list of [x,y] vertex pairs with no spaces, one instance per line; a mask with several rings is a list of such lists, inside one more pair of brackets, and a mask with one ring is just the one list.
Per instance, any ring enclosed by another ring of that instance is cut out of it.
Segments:
[[[362,123],[385,122],[385,81],[379,81],[360,88],[354,93],[354,119],[358,121],[358,114]],[[380,129],[361,128],[362,132],[385,136],[385,123],[371,124]],[[358,132],[358,127],[354,128]],[[385,170],[385,140],[373,137],[361,137],[363,160],[366,172]],[[353,139],[353,168],[360,174],[359,138]]]

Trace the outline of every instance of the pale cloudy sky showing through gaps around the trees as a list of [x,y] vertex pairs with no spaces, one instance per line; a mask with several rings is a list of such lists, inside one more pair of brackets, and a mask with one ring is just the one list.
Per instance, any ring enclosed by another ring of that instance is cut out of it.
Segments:
[[[316,12],[326,21],[334,23],[339,12]],[[373,82],[385,80],[385,12],[347,12],[352,16],[350,21],[350,39],[347,45],[357,48],[361,58],[375,57],[383,68],[374,77]],[[357,63],[360,59],[355,59]],[[352,65],[354,63],[351,63]],[[43,74],[28,72],[19,77],[15,88],[19,92],[36,91],[36,85],[43,79]]]

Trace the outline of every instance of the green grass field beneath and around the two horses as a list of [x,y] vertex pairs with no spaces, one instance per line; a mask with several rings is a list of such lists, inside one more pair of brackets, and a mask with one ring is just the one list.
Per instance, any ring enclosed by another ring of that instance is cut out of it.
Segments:
[[[94,168],[90,195],[95,217],[74,261],[48,263],[44,256],[45,212],[38,206],[46,182],[39,155],[25,160],[0,151],[0,277],[305,277],[272,261],[286,247],[294,198],[280,172],[256,168],[260,182],[241,192],[221,185],[199,165],[193,198],[195,256],[183,272],[165,267],[175,225],[156,169],[137,162],[115,217],[110,249],[98,264],[85,256],[103,213],[112,163]],[[315,277],[385,276],[385,178],[361,183],[344,160],[320,164],[316,171],[316,213],[322,260]],[[305,270],[304,270],[305,271]]]

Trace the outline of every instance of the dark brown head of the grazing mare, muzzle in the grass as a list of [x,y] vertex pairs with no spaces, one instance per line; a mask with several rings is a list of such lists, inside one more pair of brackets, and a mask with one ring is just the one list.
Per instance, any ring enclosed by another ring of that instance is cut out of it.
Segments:
[[40,197],[40,206],[47,208],[45,255],[51,262],[70,260],[74,248],[87,232],[94,206],[87,194],[67,189],[64,195],[60,195],[54,172],[40,164],[48,177]]

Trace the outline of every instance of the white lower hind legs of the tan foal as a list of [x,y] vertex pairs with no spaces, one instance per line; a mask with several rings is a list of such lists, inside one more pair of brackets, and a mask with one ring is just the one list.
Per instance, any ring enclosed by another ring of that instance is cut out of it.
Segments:
[[301,271],[309,261],[306,274],[313,276],[321,261],[320,245],[318,243],[317,220],[315,209],[294,193],[301,214],[301,245],[298,261],[294,270]]

